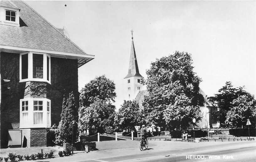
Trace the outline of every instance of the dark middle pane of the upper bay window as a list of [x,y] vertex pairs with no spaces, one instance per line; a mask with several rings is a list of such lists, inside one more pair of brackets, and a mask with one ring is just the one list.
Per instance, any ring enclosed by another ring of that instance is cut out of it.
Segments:
[[33,78],[43,78],[43,55],[33,54]]

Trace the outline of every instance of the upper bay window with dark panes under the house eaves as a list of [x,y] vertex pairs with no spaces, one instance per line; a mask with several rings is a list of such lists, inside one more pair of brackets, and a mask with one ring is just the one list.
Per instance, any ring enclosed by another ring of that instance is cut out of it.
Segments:
[[46,53],[20,53],[20,82],[40,81],[51,84],[51,56]]

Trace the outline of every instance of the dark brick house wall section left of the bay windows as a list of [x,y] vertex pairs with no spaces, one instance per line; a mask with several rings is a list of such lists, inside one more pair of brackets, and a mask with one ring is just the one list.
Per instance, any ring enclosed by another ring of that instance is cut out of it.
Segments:
[[8,129],[19,129],[19,54],[1,52],[0,72],[2,79],[9,79],[6,85],[11,89],[3,91],[1,89],[0,107],[0,140],[1,148],[8,145]]

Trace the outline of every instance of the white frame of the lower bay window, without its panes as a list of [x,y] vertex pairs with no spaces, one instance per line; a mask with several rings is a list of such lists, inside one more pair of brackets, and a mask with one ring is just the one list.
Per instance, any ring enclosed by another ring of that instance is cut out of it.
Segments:
[[[28,121],[23,122],[22,101],[28,101]],[[34,101],[43,101],[43,110],[34,110]],[[47,102],[49,102],[49,111],[47,111]],[[34,112],[43,113],[43,123],[34,124]],[[47,121],[47,114],[50,114],[49,122]],[[20,99],[20,128],[47,128],[51,127],[51,100],[45,98],[24,98]]]

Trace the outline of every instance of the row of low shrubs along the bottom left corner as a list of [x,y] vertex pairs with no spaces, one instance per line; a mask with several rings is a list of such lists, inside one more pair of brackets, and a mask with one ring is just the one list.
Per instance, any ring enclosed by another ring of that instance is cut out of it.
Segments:
[[8,160],[10,161],[23,161],[23,160],[36,160],[36,159],[47,159],[47,158],[53,158],[53,153],[54,151],[50,151],[50,153],[37,153],[37,154],[31,154],[29,155],[16,155],[13,153],[9,153],[8,157],[4,157],[4,158],[0,158],[1,162],[4,160],[5,162],[7,162]]

